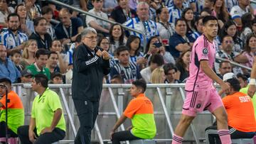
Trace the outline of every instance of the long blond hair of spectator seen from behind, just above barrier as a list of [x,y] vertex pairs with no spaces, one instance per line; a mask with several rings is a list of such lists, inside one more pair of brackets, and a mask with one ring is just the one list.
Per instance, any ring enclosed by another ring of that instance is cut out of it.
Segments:
[[162,67],[158,67],[155,70],[153,70],[151,77],[150,77],[150,83],[151,84],[164,84],[164,69]]

